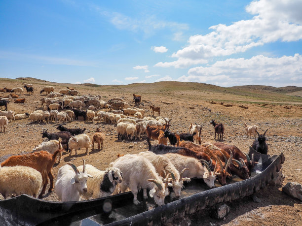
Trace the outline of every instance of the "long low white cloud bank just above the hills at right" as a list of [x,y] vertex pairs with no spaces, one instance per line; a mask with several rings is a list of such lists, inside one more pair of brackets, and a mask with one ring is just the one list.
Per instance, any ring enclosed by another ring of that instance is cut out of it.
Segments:
[[302,56],[299,54],[280,58],[258,55],[251,59],[227,59],[206,67],[190,68],[188,76],[183,75],[177,81],[204,82],[220,86],[287,86],[292,80],[296,81],[296,86],[302,86],[301,65]]

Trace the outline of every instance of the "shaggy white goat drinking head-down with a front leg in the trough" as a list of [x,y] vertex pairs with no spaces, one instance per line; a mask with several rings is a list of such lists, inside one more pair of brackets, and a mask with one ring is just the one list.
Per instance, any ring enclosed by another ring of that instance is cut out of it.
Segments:
[[168,180],[164,184],[154,166],[146,158],[137,155],[124,155],[114,162],[110,163],[111,167],[119,168],[123,174],[123,180],[120,184],[120,191],[125,192],[129,187],[134,198],[134,204],[138,204],[138,188],[143,189],[144,198],[148,198],[147,189],[150,189],[150,197],[154,198],[157,205],[165,204]]

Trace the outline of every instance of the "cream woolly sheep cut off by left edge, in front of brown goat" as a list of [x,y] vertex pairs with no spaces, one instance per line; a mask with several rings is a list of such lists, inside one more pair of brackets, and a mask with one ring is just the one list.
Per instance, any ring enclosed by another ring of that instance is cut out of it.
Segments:
[[34,168],[0,165],[0,193],[4,199],[12,194],[28,194],[36,198],[41,185],[42,176]]

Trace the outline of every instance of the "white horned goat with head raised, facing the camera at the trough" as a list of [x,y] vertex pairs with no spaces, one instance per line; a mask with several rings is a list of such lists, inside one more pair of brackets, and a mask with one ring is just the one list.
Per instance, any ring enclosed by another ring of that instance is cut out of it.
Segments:
[[92,176],[85,172],[85,160],[82,172],[79,172],[73,163],[67,164],[59,169],[55,185],[56,194],[63,202],[79,201],[81,194],[87,192],[87,179]]

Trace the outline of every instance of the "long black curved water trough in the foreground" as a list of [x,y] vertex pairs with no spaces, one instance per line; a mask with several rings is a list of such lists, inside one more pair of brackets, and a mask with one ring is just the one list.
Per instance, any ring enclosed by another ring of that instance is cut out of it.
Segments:
[[[152,208],[133,216],[125,214],[124,219],[114,213],[121,208],[131,205],[131,192],[117,194],[110,197],[78,202],[55,202],[19,195],[0,201],[0,225],[162,225],[172,223],[173,220],[183,218],[204,208],[220,202],[242,198],[265,187],[276,173],[280,171],[285,158],[280,155],[262,155],[250,148],[249,156],[254,153],[255,161],[259,161],[255,170],[259,174],[243,181],[228,184],[223,187],[192,194],[190,196],[170,200],[163,206]],[[187,187],[187,186],[186,186]],[[124,208],[122,211],[127,211]]]

